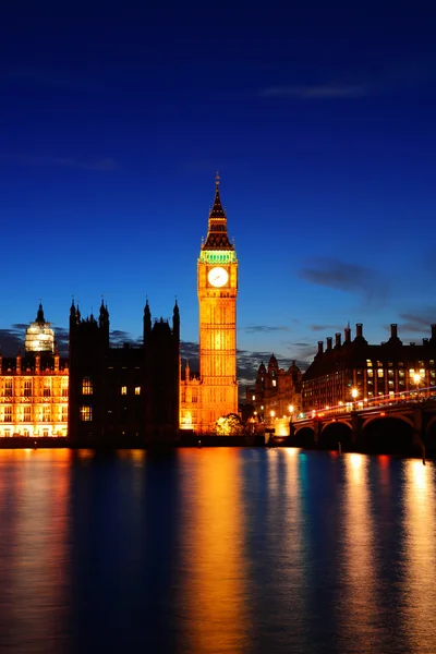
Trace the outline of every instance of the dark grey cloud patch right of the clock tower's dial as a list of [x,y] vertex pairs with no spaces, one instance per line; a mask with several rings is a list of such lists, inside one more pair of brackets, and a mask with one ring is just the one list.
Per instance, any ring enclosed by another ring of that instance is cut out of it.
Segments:
[[318,259],[313,267],[303,268],[299,276],[311,283],[362,295],[367,302],[385,298],[386,279],[379,280],[373,269],[335,259]]

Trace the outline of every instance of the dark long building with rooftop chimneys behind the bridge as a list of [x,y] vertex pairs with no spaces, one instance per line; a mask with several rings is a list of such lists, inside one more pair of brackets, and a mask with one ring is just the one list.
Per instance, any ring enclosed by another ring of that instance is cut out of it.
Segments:
[[303,376],[303,410],[312,411],[351,402],[363,403],[377,397],[407,399],[414,393],[435,392],[436,325],[431,338],[422,344],[404,344],[397,325],[390,326],[390,338],[379,344],[368,344],[363,326],[327,338],[327,347],[318,341],[318,351]]

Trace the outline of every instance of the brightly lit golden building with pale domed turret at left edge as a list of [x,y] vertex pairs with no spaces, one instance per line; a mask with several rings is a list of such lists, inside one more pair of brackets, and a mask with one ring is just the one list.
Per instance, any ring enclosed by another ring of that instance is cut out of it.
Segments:
[[0,354],[0,437],[66,436],[68,392],[68,361],[56,352],[39,304],[26,330],[25,355]]

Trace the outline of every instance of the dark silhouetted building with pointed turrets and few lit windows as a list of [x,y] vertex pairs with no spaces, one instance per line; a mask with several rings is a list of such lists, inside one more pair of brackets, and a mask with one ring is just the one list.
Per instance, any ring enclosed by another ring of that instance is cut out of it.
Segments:
[[142,347],[109,343],[109,312],[98,319],[70,308],[70,412],[72,445],[173,443],[179,428],[180,314],[172,327],[152,322],[144,308]]

